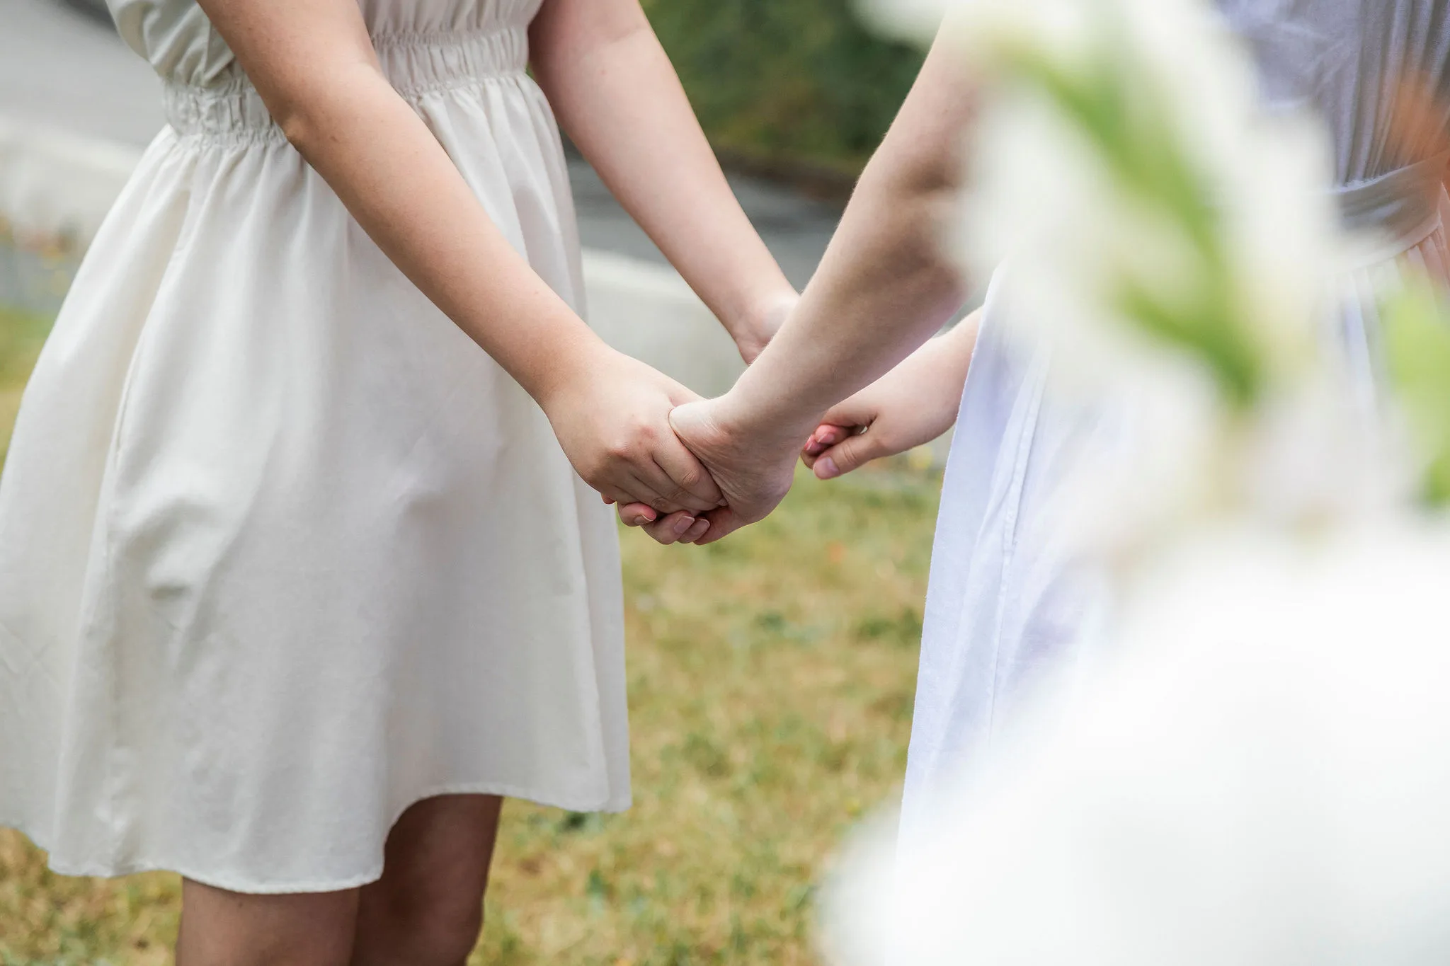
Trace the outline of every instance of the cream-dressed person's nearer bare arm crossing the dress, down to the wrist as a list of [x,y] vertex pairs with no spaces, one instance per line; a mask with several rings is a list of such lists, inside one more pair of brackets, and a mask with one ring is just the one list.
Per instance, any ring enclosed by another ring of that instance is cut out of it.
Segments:
[[[283,132],[383,252],[535,398],[606,350],[383,77],[347,0],[206,0]],[[526,324],[525,324],[526,322]]]

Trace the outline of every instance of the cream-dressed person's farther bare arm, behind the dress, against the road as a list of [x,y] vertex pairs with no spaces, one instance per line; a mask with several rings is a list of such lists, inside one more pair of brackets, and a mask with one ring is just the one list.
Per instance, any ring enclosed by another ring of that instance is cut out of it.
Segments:
[[545,0],[529,45],[560,125],[753,359],[796,293],[725,182],[638,0]]

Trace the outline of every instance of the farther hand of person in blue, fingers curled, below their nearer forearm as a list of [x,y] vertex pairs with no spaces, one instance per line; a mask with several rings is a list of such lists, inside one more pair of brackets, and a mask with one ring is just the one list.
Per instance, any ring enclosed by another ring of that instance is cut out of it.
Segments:
[[825,414],[800,450],[819,479],[937,439],[957,420],[976,319],[932,339],[895,369]]

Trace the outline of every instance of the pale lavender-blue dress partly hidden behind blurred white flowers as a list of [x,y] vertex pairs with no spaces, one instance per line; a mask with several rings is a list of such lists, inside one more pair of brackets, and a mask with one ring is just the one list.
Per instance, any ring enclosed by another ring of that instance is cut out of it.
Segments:
[[[1341,332],[1364,397],[1378,364],[1373,293],[1404,265],[1450,280],[1441,175],[1450,158],[1427,142],[1411,164],[1392,155],[1393,88],[1431,80],[1450,94],[1450,4],[1444,0],[1219,0],[1251,46],[1270,109],[1309,107],[1335,146],[1340,207],[1388,239],[1343,280]],[[1450,120],[1447,117],[1446,120]],[[924,620],[916,708],[906,766],[903,834],[914,834],[938,789],[973,770],[1012,710],[1051,669],[1103,646],[1103,575],[1074,559],[1044,521],[1067,500],[1066,478],[1085,446],[1114,445],[1103,413],[1054,407],[1045,394],[1051,350],[1003,337],[989,293],[947,462]]]

